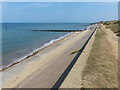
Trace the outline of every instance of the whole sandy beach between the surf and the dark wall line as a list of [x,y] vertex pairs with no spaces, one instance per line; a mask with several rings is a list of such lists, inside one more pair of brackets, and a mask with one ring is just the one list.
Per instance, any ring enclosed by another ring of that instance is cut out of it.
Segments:
[[74,32],[1,72],[3,88],[51,88],[93,31]]

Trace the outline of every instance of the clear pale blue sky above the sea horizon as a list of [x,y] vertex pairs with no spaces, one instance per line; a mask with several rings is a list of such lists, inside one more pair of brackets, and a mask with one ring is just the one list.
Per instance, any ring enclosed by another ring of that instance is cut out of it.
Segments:
[[3,22],[97,22],[118,19],[116,2],[4,2]]

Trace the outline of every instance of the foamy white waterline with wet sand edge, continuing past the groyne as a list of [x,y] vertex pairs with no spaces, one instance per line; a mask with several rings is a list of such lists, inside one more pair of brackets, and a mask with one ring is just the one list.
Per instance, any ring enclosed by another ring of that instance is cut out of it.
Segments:
[[[83,31],[89,29],[92,25],[94,25],[94,24],[90,24],[90,25],[88,25],[88,27],[86,27],[85,29],[81,29],[81,30],[78,31],[78,32],[83,32]],[[27,54],[27,55],[21,57],[20,59],[16,59],[16,61],[11,62],[9,65],[5,65],[5,66],[3,65],[3,66],[1,66],[1,67],[0,67],[0,72],[2,72],[2,71],[4,71],[4,70],[7,70],[7,69],[9,69],[10,67],[12,67],[12,66],[14,66],[14,65],[16,65],[16,64],[21,63],[21,62],[25,61],[26,59],[31,58],[32,56],[36,55],[37,53],[41,52],[41,51],[44,50],[45,48],[51,46],[52,44],[58,42],[59,40],[62,40],[62,39],[64,39],[64,38],[68,37],[68,36],[69,36],[70,34],[72,34],[72,33],[74,33],[74,32],[71,32],[71,33],[69,32],[69,33],[67,33],[67,34],[65,34],[65,35],[63,35],[63,36],[59,36],[58,38],[55,38],[55,39],[53,38],[53,39],[50,40],[49,42],[44,43],[44,44],[43,44],[42,46],[40,46],[39,48],[34,49],[32,52],[30,52],[30,54]],[[54,41],[54,40],[55,40],[55,41]],[[51,41],[53,41],[53,42],[50,43]],[[49,44],[49,43],[50,43],[50,44]],[[48,44],[48,45],[46,45],[46,44]]]

